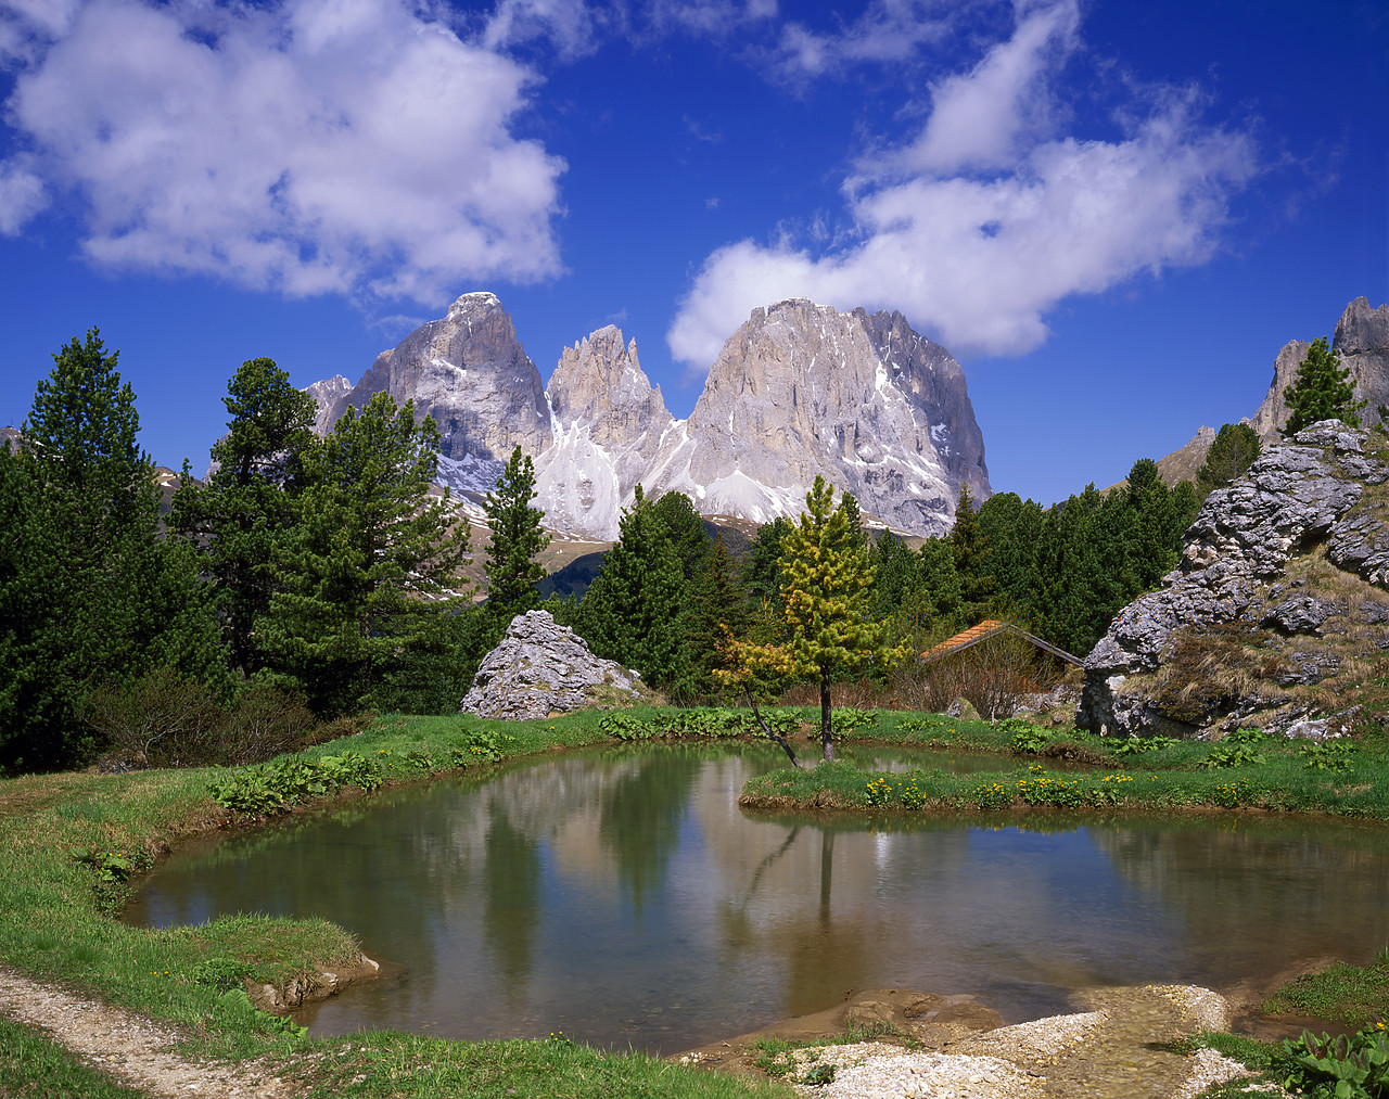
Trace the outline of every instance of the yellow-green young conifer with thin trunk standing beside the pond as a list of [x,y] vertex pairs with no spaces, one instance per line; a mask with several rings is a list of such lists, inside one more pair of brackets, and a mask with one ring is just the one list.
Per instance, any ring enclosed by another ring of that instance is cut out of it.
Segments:
[[843,497],[832,509],[833,493],[835,486],[817,475],[806,493],[807,510],[782,540],[788,641],[732,643],[732,671],[725,677],[736,681],[739,674],[761,666],[817,681],[820,741],[826,760],[835,757],[831,684],[868,664],[892,666],[907,652],[906,646],[885,643],[886,624],[874,617],[874,567],[856,529],[857,504]]

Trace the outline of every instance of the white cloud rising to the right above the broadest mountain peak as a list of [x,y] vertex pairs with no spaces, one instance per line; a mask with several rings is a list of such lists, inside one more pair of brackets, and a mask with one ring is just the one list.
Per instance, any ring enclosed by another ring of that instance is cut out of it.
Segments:
[[851,245],[714,251],[667,333],[672,354],[707,368],[753,308],[785,297],[896,308],[953,350],[1022,354],[1064,299],[1210,258],[1256,172],[1253,140],[1201,125],[1195,94],[1171,92],[1126,110],[1117,139],[1053,135],[1049,78],[1074,35],[1071,0],[1020,10],[1007,42],[940,82],[921,131],[846,181]]

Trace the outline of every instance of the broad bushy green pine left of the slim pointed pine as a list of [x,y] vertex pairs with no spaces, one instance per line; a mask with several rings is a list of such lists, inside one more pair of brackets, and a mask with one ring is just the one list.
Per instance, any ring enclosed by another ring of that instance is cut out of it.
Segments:
[[431,497],[439,429],[376,393],[306,456],[294,535],[275,547],[264,652],[319,713],[368,704],[414,661],[440,659],[464,586],[468,528]]

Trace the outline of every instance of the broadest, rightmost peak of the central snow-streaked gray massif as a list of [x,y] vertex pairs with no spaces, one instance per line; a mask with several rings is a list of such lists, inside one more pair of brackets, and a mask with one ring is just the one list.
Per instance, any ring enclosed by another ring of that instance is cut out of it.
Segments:
[[706,514],[799,514],[821,472],[889,527],[931,535],[950,528],[961,482],[989,496],[964,371],[900,313],[754,310],[679,431],[654,488]]

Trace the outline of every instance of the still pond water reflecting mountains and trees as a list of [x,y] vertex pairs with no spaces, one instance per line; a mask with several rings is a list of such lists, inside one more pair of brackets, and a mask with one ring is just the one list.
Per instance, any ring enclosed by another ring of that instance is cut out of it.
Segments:
[[181,849],[125,918],[322,916],[404,967],[306,1009],[318,1034],[663,1053],[868,988],[972,992],[1017,1021],[1088,985],[1221,988],[1389,942],[1389,828],[746,816],[743,782],[783,761],[631,747],[383,795]]

